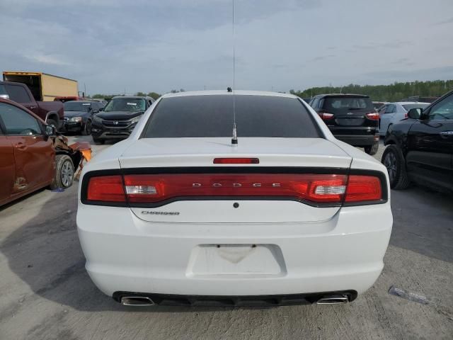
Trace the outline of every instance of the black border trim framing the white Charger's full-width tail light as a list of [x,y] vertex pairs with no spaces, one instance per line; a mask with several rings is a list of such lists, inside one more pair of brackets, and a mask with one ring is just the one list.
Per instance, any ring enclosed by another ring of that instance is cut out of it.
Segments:
[[[338,175],[368,175],[377,176],[381,181],[382,199],[366,203],[314,203],[308,200],[297,200],[295,198],[277,196],[185,196],[183,198],[171,198],[162,200],[159,203],[111,203],[89,201],[86,199],[88,193],[88,182],[94,176],[127,175],[127,174],[338,174]],[[85,205],[103,205],[126,208],[158,208],[169,203],[180,200],[295,200],[300,203],[314,207],[346,207],[357,205],[383,204],[389,200],[386,175],[382,171],[365,169],[346,168],[314,168],[314,167],[288,167],[288,166],[198,166],[198,167],[155,167],[155,168],[125,168],[111,170],[88,171],[84,174],[81,183],[81,203]]]

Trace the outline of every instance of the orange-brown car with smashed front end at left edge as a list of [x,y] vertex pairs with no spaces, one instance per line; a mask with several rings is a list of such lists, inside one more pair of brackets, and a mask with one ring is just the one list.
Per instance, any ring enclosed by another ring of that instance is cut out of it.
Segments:
[[67,145],[37,115],[0,97],[0,205],[40,188],[69,188],[84,159],[87,142]]

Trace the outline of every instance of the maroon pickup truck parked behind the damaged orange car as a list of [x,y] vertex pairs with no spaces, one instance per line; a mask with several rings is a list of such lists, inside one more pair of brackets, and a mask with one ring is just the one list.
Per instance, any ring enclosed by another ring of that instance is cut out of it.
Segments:
[[57,130],[62,126],[64,121],[63,103],[60,101],[35,101],[30,89],[25,84],[0,81],[0,97],[20,103]]

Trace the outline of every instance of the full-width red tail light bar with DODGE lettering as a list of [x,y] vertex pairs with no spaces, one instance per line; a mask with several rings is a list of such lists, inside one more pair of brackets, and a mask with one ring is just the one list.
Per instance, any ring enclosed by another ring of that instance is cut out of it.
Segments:
[[[193,198],[278,198],[321,206],[382,200],[376,176],[338,174],[139,174],[91,177],[82,202],[165,204]],[[162,205],[161,204],[161,205]]]

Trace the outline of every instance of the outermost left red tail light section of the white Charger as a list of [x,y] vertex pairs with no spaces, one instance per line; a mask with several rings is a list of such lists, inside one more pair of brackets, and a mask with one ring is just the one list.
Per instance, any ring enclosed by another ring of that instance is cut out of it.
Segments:
[[86,198],[101,202],[126,202],[122,176],[91,177]]

